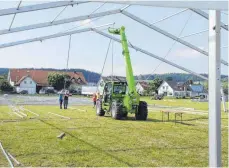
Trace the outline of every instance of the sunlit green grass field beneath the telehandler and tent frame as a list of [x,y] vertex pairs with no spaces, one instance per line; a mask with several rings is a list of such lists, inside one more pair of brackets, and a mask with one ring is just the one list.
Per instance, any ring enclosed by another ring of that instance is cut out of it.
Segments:
[[[190,100],[155,101],[149,104],[206,110],[207,103]],[[57,106],[25,106],[39,114],[20,119],[8,106],[0,106],[0,141],[22,166],[208,166],[208,117],[184,114],[183,123],[161,121],[161,113],[149,110],[148,121],[113,120],[87,110],[60,110]],[[63,119],[48,112],[71,119]],[[228,167],[228,116],[222,112],[222,163]],[[65,132],[61,140],[57,136]],[[8,166],[0,153],[0,166]]]

